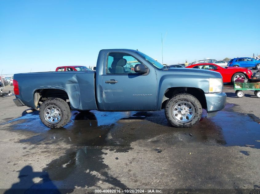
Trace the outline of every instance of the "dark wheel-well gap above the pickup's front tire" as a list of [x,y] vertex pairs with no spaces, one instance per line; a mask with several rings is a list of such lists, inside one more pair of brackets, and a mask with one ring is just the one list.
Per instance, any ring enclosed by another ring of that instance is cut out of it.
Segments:
[[207,109],[207,101],[205,97],[205,93],[202,89],[194,88],[194,87],[171,87],[166,89],[164,92],[164,96],[162,99],[161,109],[165,108],[166,102],[178,93],[189,93],[196,97],[200,102],[202,108]]

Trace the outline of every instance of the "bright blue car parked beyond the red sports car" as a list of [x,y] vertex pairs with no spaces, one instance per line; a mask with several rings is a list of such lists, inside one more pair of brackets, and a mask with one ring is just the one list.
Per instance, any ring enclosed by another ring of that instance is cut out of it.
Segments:
[[254,60],[249,57],[234,58],[227,63],[227,67],[247,67],[247,68],[252,67],[259,70],[260,61]]

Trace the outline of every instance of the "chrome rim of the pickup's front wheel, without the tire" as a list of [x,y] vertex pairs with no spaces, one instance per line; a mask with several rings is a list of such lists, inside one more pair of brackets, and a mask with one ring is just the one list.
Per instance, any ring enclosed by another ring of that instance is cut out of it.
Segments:
[[188,101],[177,102],[172,107],[172,116],[174,120],[180,123],[188,123],[195,116],[195,108]]

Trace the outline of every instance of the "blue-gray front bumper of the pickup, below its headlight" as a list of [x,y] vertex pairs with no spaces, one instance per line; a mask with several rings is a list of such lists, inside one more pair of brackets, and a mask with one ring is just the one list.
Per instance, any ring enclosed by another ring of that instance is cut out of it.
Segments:
[[205,93],[207,101],[207,117],[213,117],[217,111],[222,110],[226,105],[226,93]]

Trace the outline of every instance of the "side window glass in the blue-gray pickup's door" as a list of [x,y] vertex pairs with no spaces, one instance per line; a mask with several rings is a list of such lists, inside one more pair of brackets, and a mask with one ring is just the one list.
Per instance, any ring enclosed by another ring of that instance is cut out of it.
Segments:
[[140,64],[137,59],[126,53],[109,53],[107,59],[107,74],[136,74],[134,66]]

